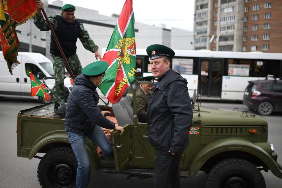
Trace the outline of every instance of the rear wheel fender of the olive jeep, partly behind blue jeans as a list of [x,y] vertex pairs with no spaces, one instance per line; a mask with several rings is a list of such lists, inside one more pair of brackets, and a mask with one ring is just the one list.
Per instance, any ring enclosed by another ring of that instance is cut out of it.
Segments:
[[[37,139],[34,142],[31,148],[31,151],[29,153],[29,156],[28,156],[29,159],[33,158],[37,154],[37,152],[45,145],[48,145],[51,143],[60,143],[60,142],[70,144],[66,132],[56,131],[56,132],[51,132],[51,133],[43,135],[42,137],[40,137],[39,139]],[[99,169],[99,159],[96,154],[96,146],[93,144],[93,142],[89,138],[86,138],[85,146],[86,146],[86,150],[87,150],[87,154],[90,160],[91,167],[94,170],[98,170]]]

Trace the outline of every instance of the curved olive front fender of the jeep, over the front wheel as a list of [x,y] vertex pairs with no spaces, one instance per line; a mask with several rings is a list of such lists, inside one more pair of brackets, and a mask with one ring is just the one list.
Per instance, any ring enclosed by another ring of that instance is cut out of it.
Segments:
[[235,137],[216,140],[201,149],[196,154],[189,167],[190,177],[196,175],[208,159],[212,158],[216,154],[227,151],[243,151],[252,154],[262,160],[275,176],[282,178],[279,167],[270,154],[247,139]]

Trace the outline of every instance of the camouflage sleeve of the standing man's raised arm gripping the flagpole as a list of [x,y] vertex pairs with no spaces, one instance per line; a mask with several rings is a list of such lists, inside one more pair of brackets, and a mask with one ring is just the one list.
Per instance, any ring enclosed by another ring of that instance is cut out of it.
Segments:
[[[54,30],[57,30],[58,29],[58,20],[56,18],[56,16],[50,16],[48,17],[49,18],[49,21],[51,23],[51,26]],[[46,20],[43,18],[43,15],[40,14],[40,15],[35,15],[34,17],[34,20],[33,20],[33,23],[35,24],[35,26],[40,29],[40,31],[49,31],[50,28],[46,22]]]

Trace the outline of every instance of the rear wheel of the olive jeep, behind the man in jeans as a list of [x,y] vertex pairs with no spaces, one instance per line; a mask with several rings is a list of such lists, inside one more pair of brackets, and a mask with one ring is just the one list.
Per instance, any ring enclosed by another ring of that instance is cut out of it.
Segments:
[[[75,188],[77,160],[71,148],[55,148],[40,160],[37,168],[39,184],[44,188]],[[90,169],[88,183],[90,180]]]

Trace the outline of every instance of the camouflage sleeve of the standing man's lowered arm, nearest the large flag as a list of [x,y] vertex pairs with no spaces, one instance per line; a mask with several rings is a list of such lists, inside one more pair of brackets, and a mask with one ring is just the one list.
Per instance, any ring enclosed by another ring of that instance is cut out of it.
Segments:
[[81,32],[78,35],[78,38],[80,39],[82,45],[86,50],[89,50],[91,52],[94,52],[94,50],[98,50],[98,46],[94,43],[94,41],[91,39],[91,37],[88,34],[88,31],[84,29],[84,26],[81,22],[80,23],[80,28]]

